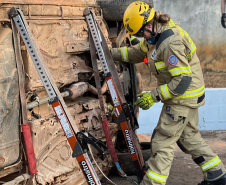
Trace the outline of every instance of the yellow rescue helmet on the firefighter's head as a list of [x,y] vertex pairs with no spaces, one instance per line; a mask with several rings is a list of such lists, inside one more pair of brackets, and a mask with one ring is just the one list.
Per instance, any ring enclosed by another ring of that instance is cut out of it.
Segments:
[[131,3],[123,16],[123,23],[130,35],[142,36],[147,22],[155,16],[155,10],[148,4],[135,1]]

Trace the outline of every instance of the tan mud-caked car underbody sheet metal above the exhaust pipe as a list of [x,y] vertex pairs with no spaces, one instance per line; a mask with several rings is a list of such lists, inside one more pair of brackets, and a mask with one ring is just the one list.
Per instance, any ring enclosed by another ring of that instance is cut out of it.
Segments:
[[[87,45],[88,29],[84,20],[30,20],[29,27],[58,86],[89,79],[92,68],[79,55],[68,52],[68,46]],[[101,27],[107,33],[103,22]],[[41,80],[26,50],[23,52],[23,60],[29,76],[26,79],[27,91],[42,88]]]

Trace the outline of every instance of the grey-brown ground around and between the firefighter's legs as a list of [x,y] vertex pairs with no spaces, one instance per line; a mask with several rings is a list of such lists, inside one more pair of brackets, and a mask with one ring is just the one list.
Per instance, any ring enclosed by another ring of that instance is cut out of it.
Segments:
[[[226,131],[201,131],[203,138],[210,145],[213,151],[220,157],[226,165]],[[150,141],[151,135],[138,134],[140,142]],[[121,185],[131,183],[119,176],[109,175],[109,178]],[[202,181],[202,171],[193,162],[191,156],[184,154],[177,146],[172,168],[166,185],[197,185]],[[102,180],[103,185],[110,185],[106,180]]]

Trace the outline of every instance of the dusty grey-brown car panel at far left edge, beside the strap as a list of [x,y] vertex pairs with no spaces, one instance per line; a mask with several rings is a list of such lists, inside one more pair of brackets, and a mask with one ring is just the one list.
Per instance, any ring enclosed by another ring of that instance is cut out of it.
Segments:
[[19,87],[12,31],[0,25],[0,33],[6,33],[0,42],[0,168],[4,168],[20,156]]

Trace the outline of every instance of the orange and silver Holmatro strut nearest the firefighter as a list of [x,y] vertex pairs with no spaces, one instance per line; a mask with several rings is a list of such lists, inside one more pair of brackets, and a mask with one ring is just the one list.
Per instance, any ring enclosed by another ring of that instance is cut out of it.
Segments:
[[[135,134],[135,130],[139,128],[136,117],[133,113],[133,110],[131,110],[132,107],[125,100],[114,61],[111,57],[108,45],[95,19],[95,15],[92,12],[92,9],[86,8],[84,10],[84,15],[86,17],[86,22],[88,24],[91,35],[91,57],[92,59],[95,59],[94,55],[96,55],[96,53],[98,54],[101,66],[103,68],[104,78],[107,82],[112,102],[114,104],[116,116],[118,117],[118,123],[122,128],[132,161],[137,170],[138,181],[141,181],[145,172],[142,169],[144,166],[142,152],[138,143],[137,136]],[[96,60],[92,60],[92,63],[93,66],[97,66]],[[104,109],[104,105],[102,103],[100,104],[100,106],[102,107],[102,109]]]

